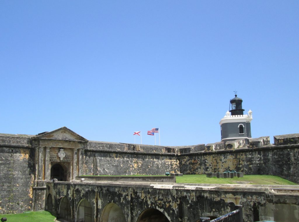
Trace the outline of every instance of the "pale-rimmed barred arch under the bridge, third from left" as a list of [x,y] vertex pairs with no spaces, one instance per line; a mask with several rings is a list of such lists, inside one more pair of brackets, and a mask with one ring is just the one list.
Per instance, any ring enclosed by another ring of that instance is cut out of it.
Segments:
[[91,222],[94,221],[94,210],[88,200],[82,199],[78,204],[77,209],[78,222]]

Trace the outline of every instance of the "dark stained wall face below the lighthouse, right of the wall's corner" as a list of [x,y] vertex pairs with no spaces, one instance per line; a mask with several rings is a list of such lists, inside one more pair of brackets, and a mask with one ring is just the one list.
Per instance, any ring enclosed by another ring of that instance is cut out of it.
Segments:
[[299,183],[299,144],[215,150],[181,154],[180,172],[216,173],[236,170],[245,174],[276,175]]

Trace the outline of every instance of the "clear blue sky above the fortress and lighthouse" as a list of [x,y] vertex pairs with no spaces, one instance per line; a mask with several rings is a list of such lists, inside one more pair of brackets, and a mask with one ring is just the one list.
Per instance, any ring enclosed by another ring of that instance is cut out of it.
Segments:
[[[252,137],[298,133],[299,1],[0,1],[0,133],[220,141],[234,90]],[[157,137],[158,138],[158,137]],[[139,141],[136,138],[136,142]]]

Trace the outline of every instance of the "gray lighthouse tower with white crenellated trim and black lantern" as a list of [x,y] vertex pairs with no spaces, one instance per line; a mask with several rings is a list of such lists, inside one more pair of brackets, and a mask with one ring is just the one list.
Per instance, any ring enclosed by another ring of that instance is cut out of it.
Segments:
[[225,113],[225,116],[220,120],[221,141],[227,142],[236,139],[245,139],[248,143],[248,138],[251,138],[250,122],[252,120],[252,111],[248,111],[248,115],[244,115],[242,108],[243,100],[237,97],[237,94],[230,101],[230,111]]

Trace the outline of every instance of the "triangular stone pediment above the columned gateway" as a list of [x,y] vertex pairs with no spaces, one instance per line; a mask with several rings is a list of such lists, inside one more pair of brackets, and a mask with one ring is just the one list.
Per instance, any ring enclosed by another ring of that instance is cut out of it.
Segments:
[[51,132],[43,133],[36,137],[39,139],[60,139],[60,140],[76,140],[76,141],[88,142],[87,139],[78,135],[74,131],[71,131],[65,126]]

